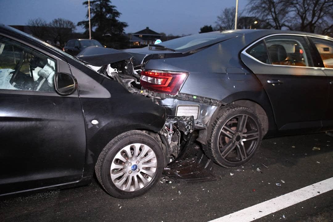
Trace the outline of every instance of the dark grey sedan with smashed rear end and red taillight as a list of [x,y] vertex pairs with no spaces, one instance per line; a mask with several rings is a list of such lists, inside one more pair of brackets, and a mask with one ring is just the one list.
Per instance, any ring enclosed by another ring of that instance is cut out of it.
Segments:
[[264,136],[333,130],[332,49],[312,33],[228,30],[126,51],[143,94],[192,115],[206,154],[235,167]]

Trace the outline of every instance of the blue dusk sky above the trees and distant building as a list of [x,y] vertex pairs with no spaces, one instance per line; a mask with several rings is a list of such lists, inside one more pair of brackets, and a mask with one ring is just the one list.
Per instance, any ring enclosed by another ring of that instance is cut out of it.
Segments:
[[[54,18],[71,20],[75,24],[86,20],[84,0],[0,0],[0,23],[26,25],[29,19],[42,18],[50,22]],[[147,26],[167,35],[195,34],[204,25],[214,26],[216,16],[226,7],[235,6],[236,0],[113,0],[112,4],[122,13],[119,20],[127,22],[126,33],[140,31]],[[239,0],[239,11],[247,0]],[[77,27],[76,32],[83,32]]]

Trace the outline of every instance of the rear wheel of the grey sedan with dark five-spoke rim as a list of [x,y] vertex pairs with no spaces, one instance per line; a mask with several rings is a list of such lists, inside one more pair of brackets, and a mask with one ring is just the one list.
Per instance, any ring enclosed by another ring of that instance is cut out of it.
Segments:
[[262,135],[259,117],[251,109],[225,106],[212,123],[205,152],[221,166],[241,166],[254,156]]

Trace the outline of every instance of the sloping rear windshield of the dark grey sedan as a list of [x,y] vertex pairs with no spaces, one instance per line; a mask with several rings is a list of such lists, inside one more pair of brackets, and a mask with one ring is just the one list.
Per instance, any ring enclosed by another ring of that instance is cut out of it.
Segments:
[[174,49],[174,50],[182,50],[191,48],[197,45],[200,45],[205,42],[213,41],[216,39],[220,39],[226,37],[223,33],[220,32],[210,32],[203,34],[195,34],[190,36],[184,36],[177,39],[172,39],[166,42],[162,42],[159,45],[165,46],[166,48]]

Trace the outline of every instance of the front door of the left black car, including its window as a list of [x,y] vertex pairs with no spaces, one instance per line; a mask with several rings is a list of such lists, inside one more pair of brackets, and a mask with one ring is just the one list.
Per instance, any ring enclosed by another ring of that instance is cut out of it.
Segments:
[[82,177],[85,121],[75,92],[54,90],[57,54],[0,34],[0,195],[73,183]]

